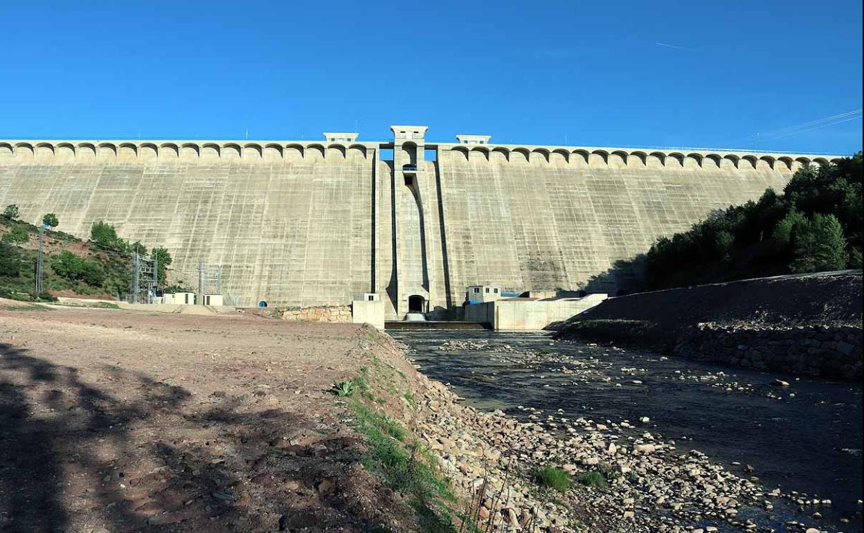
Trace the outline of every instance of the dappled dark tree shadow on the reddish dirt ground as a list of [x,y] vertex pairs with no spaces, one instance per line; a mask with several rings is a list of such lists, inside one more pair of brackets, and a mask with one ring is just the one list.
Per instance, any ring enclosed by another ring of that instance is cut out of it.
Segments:
[[363,531],[392,507],[332,424],[104,370],[0,343],[0,530]]

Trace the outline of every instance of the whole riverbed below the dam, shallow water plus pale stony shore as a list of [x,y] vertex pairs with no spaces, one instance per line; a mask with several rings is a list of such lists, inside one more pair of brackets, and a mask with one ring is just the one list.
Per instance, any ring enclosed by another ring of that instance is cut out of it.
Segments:
[[[537,335],[395,336],[430,378],[455,384],[448,390],[428,382],[418,431],[456,485],[469,496],[482,492],[481,517],[492,513],[513,530],[861,529],[860,386],[845,384],[848,390],[830,397],[801,379],[754,379],[653,354],[553,344]],[[610,401],[616,396],[618,402]],[[797,411],[806,422],[791,423],[786,435],[763,435],[777,422],[753,420],[754,410],[777,418],[778,411],[815,400],[829,418]],[[678,408],[689,413],[676,423]],[[832,420],[838,413],[845,415]],[[803,456],[786,462],[818,465],[819,479],[803,482],[812,474],[790,475],[789,464],[768,464],[771,453],[748,452],[748,443],[768,437],[778,454],[789,455],[783,443],[791,442]],[[810,447],[820,440],[824,449]],[[841,441],[848,447],[833,449]],[[738,449],[730,449],[735,443]],[[847,461],[838,465],[838,457]],[[543,465],[560,466],[575,479],[596,473],[606,486],[577,483],[566,497],[538,498],[525,476]]]

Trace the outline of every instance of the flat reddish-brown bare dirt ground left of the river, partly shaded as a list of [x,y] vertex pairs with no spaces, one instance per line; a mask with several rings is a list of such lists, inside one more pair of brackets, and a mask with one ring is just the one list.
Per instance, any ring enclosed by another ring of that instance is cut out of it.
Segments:
[[410,529],[328,392],[369,337],[0,300],[0,531]]

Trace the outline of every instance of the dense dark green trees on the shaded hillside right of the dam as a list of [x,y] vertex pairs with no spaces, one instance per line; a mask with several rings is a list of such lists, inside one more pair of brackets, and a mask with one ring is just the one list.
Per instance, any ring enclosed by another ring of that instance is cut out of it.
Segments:
[[861,152],[800,168],[782,194],[711,213],[660,238],[645,257],[645,290],[759,276],[861,268]]

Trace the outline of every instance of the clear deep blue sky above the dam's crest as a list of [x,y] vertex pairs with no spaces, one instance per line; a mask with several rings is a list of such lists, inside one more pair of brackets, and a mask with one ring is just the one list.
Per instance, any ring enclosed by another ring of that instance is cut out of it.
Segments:
[[800,126],[861,109],[861,0],[41,0],[0,13],[6,138],[319,139],[356,121],[363,140],[427,124],[432,141],[861,149],[860,112]]

